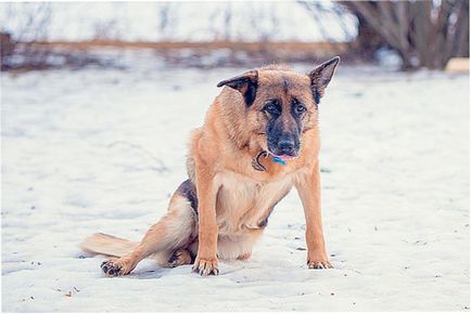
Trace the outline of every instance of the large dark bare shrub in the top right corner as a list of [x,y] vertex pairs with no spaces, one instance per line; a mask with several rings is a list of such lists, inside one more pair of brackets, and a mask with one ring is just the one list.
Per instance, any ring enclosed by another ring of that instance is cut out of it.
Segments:
[[[469,1],[339,1],[355,14],[368,37],[359,43],[386,43],[404,68],[444,68],[454,56],[469,56]],[[369,48],[367,48],[369,49]]]

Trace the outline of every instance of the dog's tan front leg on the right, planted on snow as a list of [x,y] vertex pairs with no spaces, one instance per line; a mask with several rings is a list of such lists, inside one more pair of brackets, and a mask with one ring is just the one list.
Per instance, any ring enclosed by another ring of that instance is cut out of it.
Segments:
[[316,161],[313,169],[300,174],[295,186],[306,218],[307,265],[309,269],[332,269],[322,232],[319,161]]

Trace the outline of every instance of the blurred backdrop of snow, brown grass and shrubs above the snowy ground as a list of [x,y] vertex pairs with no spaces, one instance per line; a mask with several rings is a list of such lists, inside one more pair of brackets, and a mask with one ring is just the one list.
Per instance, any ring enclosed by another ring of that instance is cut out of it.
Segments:
[[347,63],[444,69],[469,56],[469,1],[1,3],[1,69],[256,67],[339,54]]

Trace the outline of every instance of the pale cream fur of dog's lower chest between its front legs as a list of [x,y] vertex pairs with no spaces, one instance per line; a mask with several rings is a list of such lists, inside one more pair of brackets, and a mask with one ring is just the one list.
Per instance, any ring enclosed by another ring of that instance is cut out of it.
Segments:
[[216,179],[220,183],[216,212],[221,235],[237,235],[264,227],[275,205],[293,185],[291,175],[268,183],[234,172],[218,174]]

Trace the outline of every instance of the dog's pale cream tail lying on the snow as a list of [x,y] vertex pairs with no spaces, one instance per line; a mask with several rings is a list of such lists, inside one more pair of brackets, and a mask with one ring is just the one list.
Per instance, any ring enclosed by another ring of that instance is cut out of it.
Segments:
[[90,256],[106,256],[120,258],[131,252],[138,243],[118,238],[104,233],[96,233],[87,237],[81,244],[80,249]]

